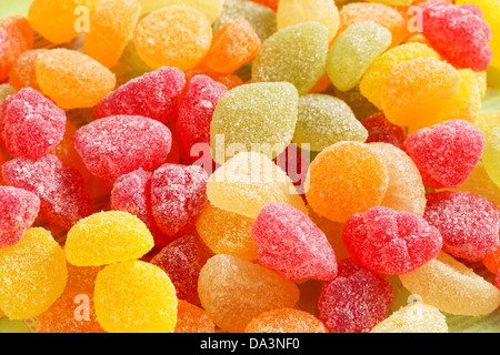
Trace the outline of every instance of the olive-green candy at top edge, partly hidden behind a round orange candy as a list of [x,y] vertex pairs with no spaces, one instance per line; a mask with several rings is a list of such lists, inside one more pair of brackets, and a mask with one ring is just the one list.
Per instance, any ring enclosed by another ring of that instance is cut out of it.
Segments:
[[260,3],[248,0],[224,0],[222,11],[213,23],[217,32],[231,20],[242,18],[251,23],[260,41],[266,41],[277,30],[276,12]]

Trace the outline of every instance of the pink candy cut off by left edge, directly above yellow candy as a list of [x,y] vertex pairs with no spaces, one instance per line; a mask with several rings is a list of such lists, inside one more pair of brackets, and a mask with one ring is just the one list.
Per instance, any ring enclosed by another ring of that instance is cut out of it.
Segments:
[[40,199],[29,191],[0,186],[0,247],[17,244],[34,222]]

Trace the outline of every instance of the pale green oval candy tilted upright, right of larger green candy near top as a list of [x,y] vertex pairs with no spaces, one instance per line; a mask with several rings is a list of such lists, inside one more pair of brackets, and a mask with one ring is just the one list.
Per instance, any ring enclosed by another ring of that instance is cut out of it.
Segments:
[[372,21],[348,27],[334,40],[327,60],[327,72],[332,84],[347,91],[356,87],[368,67],[391,43],[391,32]]

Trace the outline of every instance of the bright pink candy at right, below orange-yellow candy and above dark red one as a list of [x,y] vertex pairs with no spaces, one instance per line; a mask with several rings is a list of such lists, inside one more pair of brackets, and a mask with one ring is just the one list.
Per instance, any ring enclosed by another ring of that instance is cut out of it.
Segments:
[[404,151],[427,186],[452,189],[467,180],[481,159],[484,144],[480,129],[464,120],[452,120],[410,134]]

